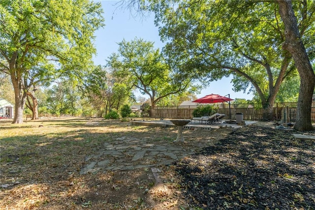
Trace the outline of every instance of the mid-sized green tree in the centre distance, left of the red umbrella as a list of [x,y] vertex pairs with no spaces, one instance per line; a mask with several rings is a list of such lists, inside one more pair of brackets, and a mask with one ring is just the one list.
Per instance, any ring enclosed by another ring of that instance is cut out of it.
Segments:
[[143,39],[120,42],[118,53],[110,56],[108,66],[130,88],[149,95],[152,106],[193,87],[190,78],[180,77],[173,71],[153,42]]

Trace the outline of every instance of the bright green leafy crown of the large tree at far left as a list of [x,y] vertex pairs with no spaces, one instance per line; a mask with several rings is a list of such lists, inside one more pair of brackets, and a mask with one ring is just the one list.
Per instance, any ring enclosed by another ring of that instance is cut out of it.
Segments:
[[100,3],[88,0],[1,1],[1,58],[9,63],[18,53],[17,67],[40,65],[38,59],[30,60],[38,57],[79,72],[95,53],[92,41],[95,30],[103,26],[101,12]]

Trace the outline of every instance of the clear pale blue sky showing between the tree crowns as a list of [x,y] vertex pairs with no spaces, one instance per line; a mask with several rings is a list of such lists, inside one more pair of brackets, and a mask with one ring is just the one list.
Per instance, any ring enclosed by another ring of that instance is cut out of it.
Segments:
[[[105,27],[95,32],[95,46],[97,55],[94,57],[95,65],[105,65],[108,57],[118,50],[118,42],[124,38],[126,41],[135,37],[146,41],[153,41],[156,48],[162,49],[164,43],[160,41],[158,27],[154,24],[154,14],[147,18],[133,17],[128,9],[118,8],[118,0],[101,0],[104,10]],[[116,5],[115,5],[116,4]],[[230,94],[232,99],[252,99],[252,94],[234,92],[232,90],[231,78],[224,77],[221,80],[211,82],[210,85],[201,90],[197,98],[209,94],[219,94],[225,96]],[[137,94],[136,95],[140,95]],[[142,96],[142,95],[141,95]],[[149,98],[146,95],[142,97]]]

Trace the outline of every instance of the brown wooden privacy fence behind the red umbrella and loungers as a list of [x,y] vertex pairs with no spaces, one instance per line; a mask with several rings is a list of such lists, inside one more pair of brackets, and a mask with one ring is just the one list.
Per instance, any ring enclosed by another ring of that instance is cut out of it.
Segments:
[[[191,119],[193,110],[197,105],[187,106],[155,106],[150,107],[150,117],[152,118],[170,118],[170,119]],[[297,102],[275,103],[274,119],[294,122],[296,119]],[[213,105],[214,111],[225,114],[225,119],[235,119],[237,113],[243,113],[244,120],[262,119],[263,109],[259,104],[228,104]],[[231,113],[231,118],[229,117]],[[312,120],[315,121],[315,103],[312,104]]]

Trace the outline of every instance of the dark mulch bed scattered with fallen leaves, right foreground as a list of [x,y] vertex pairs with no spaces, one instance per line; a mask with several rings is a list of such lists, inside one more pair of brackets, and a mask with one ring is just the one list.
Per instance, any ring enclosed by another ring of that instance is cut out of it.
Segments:
[[247,126],[176,164],[185,200],[201,209],[315,209],[315,141]]

